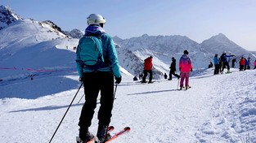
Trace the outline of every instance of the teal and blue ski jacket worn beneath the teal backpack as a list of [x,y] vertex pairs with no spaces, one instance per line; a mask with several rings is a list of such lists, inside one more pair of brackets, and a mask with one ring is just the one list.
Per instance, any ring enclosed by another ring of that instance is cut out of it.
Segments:
[[[115,45],[112,37],[110,37],[110,35],[108,35],[103,28],[97,25],[89,25],[88,28],[86,28],[84,36],[89,36],[89,35],[101,35],[101,41],[103,45],[102,46],[103,57],[105,62],[102,67],[97,69],[97,71],[84,66],[83,61],[81,60],[80,54],[79,54],[80,52],[79,49],[82,47],[78,45],[78,48],[76,51],[76,64],[77,64],[79,76],[83,77],[83,72],[110,72],[110,73],[113,73],[115,77],[120,77],[121,73],[119,70],[118,56],[115,50]],[[80,39],[80,41],[83,41],[83,37]]]

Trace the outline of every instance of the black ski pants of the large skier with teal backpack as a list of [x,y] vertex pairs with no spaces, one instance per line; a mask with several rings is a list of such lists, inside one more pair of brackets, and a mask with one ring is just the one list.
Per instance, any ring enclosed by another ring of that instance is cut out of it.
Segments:
[[92,124],[94,110],[97,106],[98,93],[101,91],[101,106],[98,111],[99,124],[109,125],[114,103],[114,76],[110,72],[83,73],[85,103],[79,118],[80,128]]

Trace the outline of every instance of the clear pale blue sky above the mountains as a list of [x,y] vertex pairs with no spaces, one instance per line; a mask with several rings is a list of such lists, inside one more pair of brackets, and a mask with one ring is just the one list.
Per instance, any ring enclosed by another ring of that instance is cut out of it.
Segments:
[[23,18],[52,20],[63,30],[87,27],[86,18],[106,18],[106,32],[123,39],[143,34],[182,35],[198,43],[222,32],[256,50],[254,0],[1,0]]

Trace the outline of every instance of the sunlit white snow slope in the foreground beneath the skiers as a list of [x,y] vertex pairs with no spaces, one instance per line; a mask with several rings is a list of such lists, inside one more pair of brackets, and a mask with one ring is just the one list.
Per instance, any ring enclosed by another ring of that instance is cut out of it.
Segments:
[[[115,95],[111,125],[115,126],[114,132],[124,126],[132,131],[113,143],[256,142],[256,70],[231,71],[217,76],[213,76],[213,69],[195,72],[190,80],[192,88],[187,91],[177,90],[176,78],[141,85],[133,82],[132,76],[124,76]],[[40,85],[54,82],[55,77],[58,76],[22,80],[20,89],[33,83],[31,92],[47,93]],[[50,141],[80,85],[78,76],[60,77],[73,80],[76,88],[38,98],[20,95],[0,99],[1,142]],[[60,83],[52,88],[61,86]],[[20,93],[11,86],[2,87],[1,92]],[[52,142],[75,141],[82,96],[80,89]],[[97,112],[90,131],[97,132]]]

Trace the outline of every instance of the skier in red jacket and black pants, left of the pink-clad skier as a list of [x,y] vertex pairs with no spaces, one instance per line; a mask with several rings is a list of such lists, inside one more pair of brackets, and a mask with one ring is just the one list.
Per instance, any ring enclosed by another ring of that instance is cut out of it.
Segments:
[[147,76],[147,73],[150,73],[150,80],[149,80],[149,84],[150,83],[153,83],[152,82],[152,67],[153,67],[153,63],[152,63],[152,56],[150,56],[150,57],[148,57],[148,58],[146,58],[145,60],[144,60],[144,73],[143,73],[143,77],[142,77],[142,81],[141,81],[141,83],[146,83],[146,76]]

